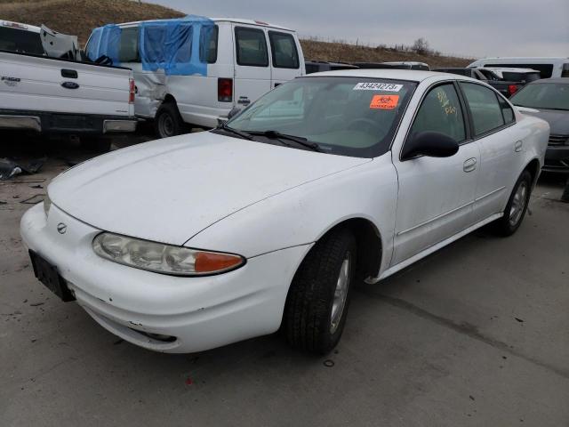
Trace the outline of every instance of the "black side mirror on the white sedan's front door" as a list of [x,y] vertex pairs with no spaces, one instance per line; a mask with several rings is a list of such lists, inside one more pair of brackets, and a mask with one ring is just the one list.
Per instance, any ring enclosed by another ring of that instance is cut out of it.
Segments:
[[445,133],[420,132],[405,141],[401,160],[417,156],[451,157],[459,150],[459,143]]

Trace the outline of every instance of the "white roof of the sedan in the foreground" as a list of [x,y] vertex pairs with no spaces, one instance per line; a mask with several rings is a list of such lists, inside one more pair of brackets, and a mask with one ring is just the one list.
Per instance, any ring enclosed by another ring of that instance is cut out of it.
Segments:
[[[391,68],[355,68],[341,69],[337,71],[323,71],[313,73],[303,77],[367,77],[367,78],[388,78],[392,80],[409,80],[412,82],[422,82],[430,77],[452,77],[457,80],[473,80],[470,77],[459,76],[456,74],[439,73],[436,71],[422,71],[418,69],[391,69]],[[475,80],[476,81],[476,80]]]

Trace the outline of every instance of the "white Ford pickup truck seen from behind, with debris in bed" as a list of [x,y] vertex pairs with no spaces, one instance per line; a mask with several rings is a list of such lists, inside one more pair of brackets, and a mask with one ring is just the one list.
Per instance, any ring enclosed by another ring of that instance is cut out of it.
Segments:
[[108,149],[100,135],[136,129],[132,70],[48,56],[48,31],[0,21],[0,129],[92,136]]

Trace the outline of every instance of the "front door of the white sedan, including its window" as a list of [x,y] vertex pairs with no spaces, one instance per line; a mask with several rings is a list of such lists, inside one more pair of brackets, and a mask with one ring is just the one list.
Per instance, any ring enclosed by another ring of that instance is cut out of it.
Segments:
[[458,153],[405,161],[393,153],[399,190],[391,265],[405,262],[471,224],[480,153],[468,138],[465,117],[455,85],[437,85],[421,102],[407,141],[416,133],[445,133],[461,144]]

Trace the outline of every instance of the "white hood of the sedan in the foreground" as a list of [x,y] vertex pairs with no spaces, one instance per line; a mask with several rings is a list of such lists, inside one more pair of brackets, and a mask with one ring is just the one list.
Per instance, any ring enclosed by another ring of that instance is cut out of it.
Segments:
[[368,161],[194,133],[95,157],[52,181],[49,196],[100,230],[182,245],[248,205]]

